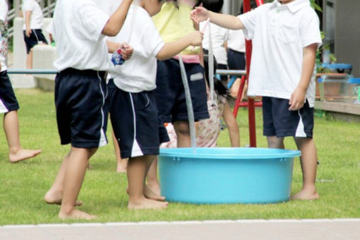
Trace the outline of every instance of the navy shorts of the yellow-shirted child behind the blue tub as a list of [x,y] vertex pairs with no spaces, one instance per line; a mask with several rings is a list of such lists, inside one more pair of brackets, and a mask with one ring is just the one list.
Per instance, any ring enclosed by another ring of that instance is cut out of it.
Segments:
[[[195,121],[209,118],[204,68],[200,64],[184,64],[193,102]],[[164,123],[188,121],[184,85],[179,61],[157,61],[155,98],[159,116]]]

